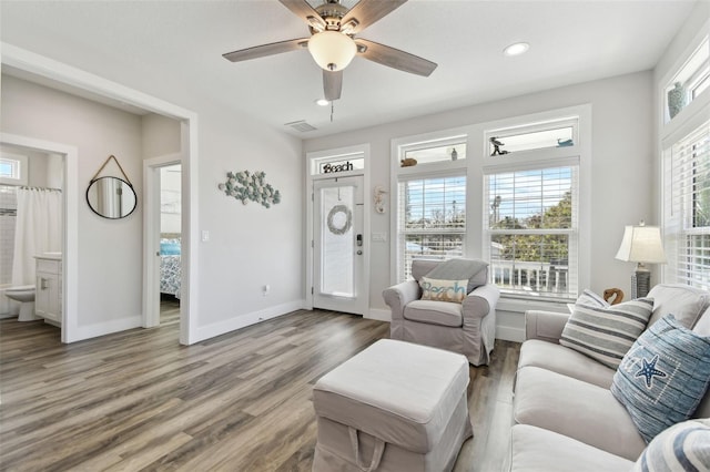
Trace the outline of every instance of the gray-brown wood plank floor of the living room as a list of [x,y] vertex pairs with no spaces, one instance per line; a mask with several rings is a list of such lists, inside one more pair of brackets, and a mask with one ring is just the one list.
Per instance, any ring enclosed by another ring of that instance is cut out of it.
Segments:
[[[313,383],[389,327],[296,311],[184,347],[172,310],[160,328],[72,345],[41,321],[0,321],[0,470],[310,471]],[[500,470],[518,353],[497,341],[491,365],[470,368],[475,437],[456,471]]]

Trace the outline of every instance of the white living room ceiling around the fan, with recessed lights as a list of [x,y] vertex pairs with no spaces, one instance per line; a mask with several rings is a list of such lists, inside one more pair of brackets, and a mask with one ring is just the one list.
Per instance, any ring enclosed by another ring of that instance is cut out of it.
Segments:
[[[438,68],[422,78],[355,58],[333,122],[329,107],[314,103],[323,94],[321,69],[306,51],[239,63],[222,58],[308,37],[276,0],[1,0],[0,31],[3,42],[142,92],[183,96],[180,106],[196,98],[220,102],[307,138],[652,69],[694,2],[409,0],[358,37]],[[528,53],[504,57],[517,41],[530,43]],[[284,126],[298,120],[317,130]]]

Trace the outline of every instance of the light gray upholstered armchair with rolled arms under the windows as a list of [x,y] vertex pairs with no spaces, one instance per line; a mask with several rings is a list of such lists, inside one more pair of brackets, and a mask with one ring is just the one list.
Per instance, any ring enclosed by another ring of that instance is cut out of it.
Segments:
[[389,337],[463,353],[474,366],[487,365],[496,338],[500,290],[488,283],[488,267],[483,260],[457,260],[479,267],[468,279],[462,302],[422,299],[422,278],[445,264],[440,260],[415,259],[414,280],[384,290],[385,302],[392,309]]

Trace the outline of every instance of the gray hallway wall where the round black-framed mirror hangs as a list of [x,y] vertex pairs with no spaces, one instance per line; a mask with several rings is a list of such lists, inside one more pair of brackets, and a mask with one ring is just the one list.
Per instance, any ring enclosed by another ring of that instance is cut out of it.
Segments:
[[[111,220],[83,201],[104,160],[118,157],[138,194],[142,188],[141,117],[12,76],[2,76],[2,131],[71,144],[79,150],[79,326],[141,315],[142,209]],[[109,167],[112,175],[118,168]],[[105,175],[105,174],[102,174]],[[109,302],[116,300],[120,302]],[[140,319],[140,318],[139,318]]]

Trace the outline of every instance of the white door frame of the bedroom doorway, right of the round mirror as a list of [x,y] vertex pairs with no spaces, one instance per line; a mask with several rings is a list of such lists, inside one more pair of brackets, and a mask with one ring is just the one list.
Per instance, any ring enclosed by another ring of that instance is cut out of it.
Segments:
[[[160,326],[160,261],[155,253],[160,252],[160,170],[181,164],[180,153],[151,157],[143,161],[143,328]],[[182,183],[180,189],[181,207],[184,205]],[[181,238],[182,245],[182,238]],[[182,256],[180,258],[181,274]],[[158,284],[156,284],[158,283]],[[182,280],[181,280],[182,287]],[[180,319],[183,319],[183,304],[180,304]]]

